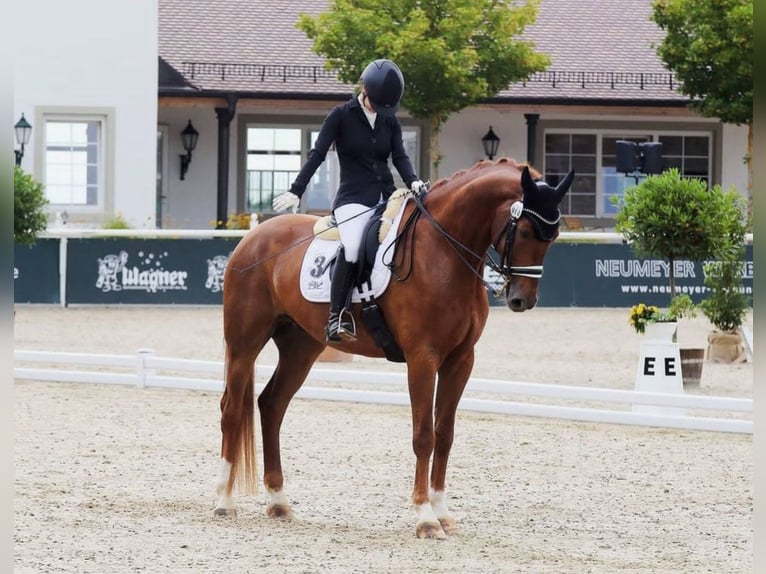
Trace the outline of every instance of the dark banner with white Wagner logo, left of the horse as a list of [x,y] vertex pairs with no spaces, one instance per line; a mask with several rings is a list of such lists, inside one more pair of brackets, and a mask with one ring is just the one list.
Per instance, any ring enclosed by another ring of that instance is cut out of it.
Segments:
[[219,305],[239,239],[70,239],[67,303]]

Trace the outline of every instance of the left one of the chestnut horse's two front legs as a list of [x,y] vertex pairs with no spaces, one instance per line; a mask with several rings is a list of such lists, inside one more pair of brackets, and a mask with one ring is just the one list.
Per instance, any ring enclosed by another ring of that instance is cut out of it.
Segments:
[[434,450],[433,400],[436,370],[429,364],[408,361],[407,381],[412,407],[412,449],[415,451],[415,484],[412,504],[418,515],[418,538],[446,538],[439,519],[431,508],[428,471]]

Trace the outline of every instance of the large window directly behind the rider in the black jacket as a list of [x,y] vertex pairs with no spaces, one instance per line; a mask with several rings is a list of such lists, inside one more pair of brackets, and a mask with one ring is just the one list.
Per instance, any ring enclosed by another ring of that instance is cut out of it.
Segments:
[[[274,196],[290,190],[305,157],[319,136],[318,126],[247,127],[245,210],[249,213],[271,211]],[[420,130],[402,126],[402,139],[407,154],[418,172]],[[398,172],[389,159],[389,167],[397,187],[403,187]],[[340,165],[334,146],[311,179],[301,201],[301,208],[329,211],[340,184]]]

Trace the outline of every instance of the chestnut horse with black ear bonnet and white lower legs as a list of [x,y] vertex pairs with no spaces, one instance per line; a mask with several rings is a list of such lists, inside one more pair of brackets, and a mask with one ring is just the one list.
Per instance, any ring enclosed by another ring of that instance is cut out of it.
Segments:
[[[378,304],[406,361],[418,538],[441,539],[457,531],[447,508],[445,477],[458,402],[489,313],[483,280],[491,261],[486,259],[489,248],[502,254],[497,270],[505,280],[507,306],[515,312],[532,309],[543,259],[558,236],[559,204],[573,177],[570,172],[553,187],[526,164],[510,158],[484,160],[437,181],[403,208],[398,229],[400,242],[410,240],[408,270],[391,282]],[[403,232],[405,220],[411,225]],[[284,492],[280,426],[290,400],[327,345],[328,305],[308,302],[298,285],[316,221],[317,216],[292,213],[261,223],[243,237],[226,267],[217,516],[236,515],[235,486],[246,493],[256,490],[254,364],[270,339],[279,359],[257,398],[263,484],[270,497],[266,511],[271,517],[292,516]],[[396,260],[404,251],[397,248]],[[352,313],[359,324],[358,303]],[[359,329],[355,341],[333,346],[351,354],[384,356],[365,329]]]

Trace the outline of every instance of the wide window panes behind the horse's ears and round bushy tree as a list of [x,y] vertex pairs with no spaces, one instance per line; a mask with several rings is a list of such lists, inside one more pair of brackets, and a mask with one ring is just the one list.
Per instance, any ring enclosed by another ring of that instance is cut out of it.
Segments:
[[636,143],[658,141],[663,144],[663,169],[677,167],[685,177],[697,177],[712,183],[712,134],[665,134],[602,130],[548,129],[544,133],[544,177],[551,185],[558,184],[575,170],[575,180],[561,202],[565,215],[613,217],[618,207],[611,197],[618,198],[626,189],[636,185],[634,177],[616,170],[616,142]]

